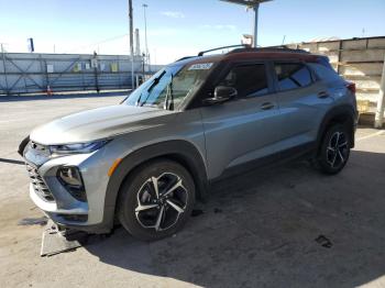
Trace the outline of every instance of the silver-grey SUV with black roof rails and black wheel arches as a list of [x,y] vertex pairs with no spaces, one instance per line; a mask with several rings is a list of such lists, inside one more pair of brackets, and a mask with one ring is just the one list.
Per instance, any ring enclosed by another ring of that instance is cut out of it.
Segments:
[[120,104],[64,117],[20,146],[35,204],[58,225],[151,241],[178,231],[210,184],[305,156],[339,173],[354,146],[355,86],[324,56],[238,48],[186,57]]

